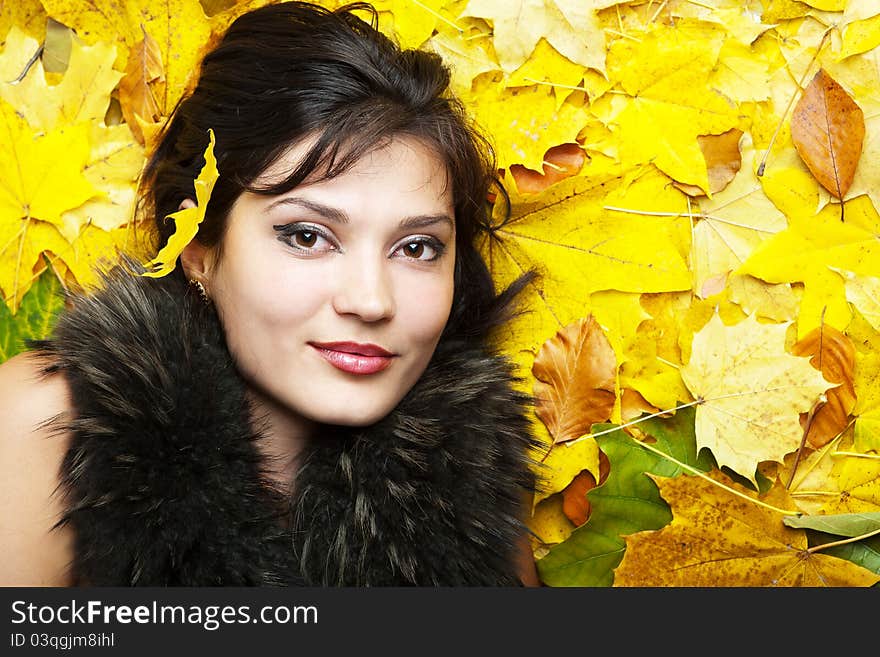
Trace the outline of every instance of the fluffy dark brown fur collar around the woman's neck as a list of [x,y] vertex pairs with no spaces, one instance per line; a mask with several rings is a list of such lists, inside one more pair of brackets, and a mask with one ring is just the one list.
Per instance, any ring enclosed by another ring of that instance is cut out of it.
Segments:
[[294,492],[265,476],[212,307],[117,270],[34,345],[74,417],[62,466],[78,584],[517,585],[530,400],[484,346],[444,337],[386,418],[325,426]]

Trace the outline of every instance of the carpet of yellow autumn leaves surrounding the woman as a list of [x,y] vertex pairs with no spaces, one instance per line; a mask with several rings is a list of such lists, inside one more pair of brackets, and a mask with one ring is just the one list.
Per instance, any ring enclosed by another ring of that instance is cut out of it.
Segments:
[[[156,258],[146,153],[267,1],[0,3],[0,360]],[[880,6],[375,6],[496,146],[499,285],[542,274],[496,337],[538,401],[544,583],[880,581]]]

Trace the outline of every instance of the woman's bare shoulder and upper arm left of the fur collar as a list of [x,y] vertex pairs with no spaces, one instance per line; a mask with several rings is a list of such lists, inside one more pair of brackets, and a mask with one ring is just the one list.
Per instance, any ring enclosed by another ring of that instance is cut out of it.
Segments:
[[59,472],[69,434],[51,421],[70,413],[64,376],[33,352],[0,364],[0,585],[65,586],[72,530],[53,529],[64,505]]

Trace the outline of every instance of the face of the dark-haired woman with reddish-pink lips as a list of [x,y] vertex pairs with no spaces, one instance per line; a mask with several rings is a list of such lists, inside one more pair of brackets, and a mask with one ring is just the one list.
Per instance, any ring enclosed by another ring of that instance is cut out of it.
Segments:
[[[282,178],[309,145],[258,183]],[[419,142],[395,138],[335,178],[242,194],[203,280],[258,402],[287,422],[367,425],[431,359],[454,263],[446,168]]]

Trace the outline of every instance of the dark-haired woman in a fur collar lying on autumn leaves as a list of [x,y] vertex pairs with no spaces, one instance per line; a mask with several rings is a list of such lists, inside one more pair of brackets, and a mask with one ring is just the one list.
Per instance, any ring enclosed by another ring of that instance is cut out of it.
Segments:
[[0,368],[3,582],[537,583],[486,346],[527,279],[474,248],[493,165],[447,83],[351,9],[229,28],[142,181],[164,242],[216,135],[174,272],[117,268]]

